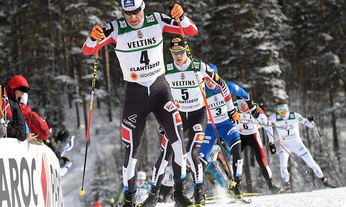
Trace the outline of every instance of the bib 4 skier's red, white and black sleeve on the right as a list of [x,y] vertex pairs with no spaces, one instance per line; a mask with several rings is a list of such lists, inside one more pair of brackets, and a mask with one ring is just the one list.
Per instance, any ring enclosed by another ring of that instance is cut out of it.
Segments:
[[[161,26],[162,34],[180,34],[179,25],[176,20],[166,14],[154,12],[154,15]],[[196,25],[188,17],[184,16],[183,20],[180,21],[180,24],[185,35],[193,36],[197,34],[198,29]]]

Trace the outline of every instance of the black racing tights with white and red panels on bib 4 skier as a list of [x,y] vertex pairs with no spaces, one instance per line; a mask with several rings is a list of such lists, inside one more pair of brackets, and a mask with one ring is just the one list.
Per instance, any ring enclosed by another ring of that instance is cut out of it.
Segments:
[[[153,112],[173,144],[173,176],[186,176],[186,150],[182,123],[165,75],[159,76],[149,87],[127,82],[122,116],[122,140],[125,146],[123,181],[126,193],[136,190],[136,162],[147,116]],[[198,152],[197,152],[198,153]]]

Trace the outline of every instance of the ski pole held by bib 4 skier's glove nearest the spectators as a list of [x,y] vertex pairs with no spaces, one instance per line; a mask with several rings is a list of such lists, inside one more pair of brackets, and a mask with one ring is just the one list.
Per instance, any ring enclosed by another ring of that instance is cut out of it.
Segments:
[[83,179],[82,179],[82,189],[79,191],[79,194],[83,196],[86,194],[86,192],[83,190],[84,187],[84,175],[86,173],[86,165],[87,165],[87,146],[89,145],[89,135],[90,135],[90,123],[91,123],[91,115],[92,115],[92,103],[94,101],[94,89],[95,89],[95,82],[96,82],[96,72],[97,72],[97,60],[98,60],[98,47],[99,47],[100,41],[96,41],[96,53],[95,53],[95,63],[94,63],[94,69],[93,69],[93,75],[92,75],[92,82],[91,82],[91,97],[90,97],[90,105],[89,105],[89,117],[87,120],[87,137],[86,137],[86,150],[84,153],[84,167],[83,167]]

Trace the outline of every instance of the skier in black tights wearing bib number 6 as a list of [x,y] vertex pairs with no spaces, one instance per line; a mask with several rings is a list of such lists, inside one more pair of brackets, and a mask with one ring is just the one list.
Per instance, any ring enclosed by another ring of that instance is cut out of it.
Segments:
[[[270,122],[267,118],[267,116],[264,114],[263,110],[258,106],[259,110],[259,117],[258,119],[255,119],[252,114],[249,112],[249,106],[248,104],[240,97],[237,97],[237,103],[234,104],[235,108],[238,110],[240,114],[240,120],[242,122],[259,122],[261,124],[267,124],[270,125]],[[260,138],[259,133],[259,125],[258,124],[244,124],[239,123],[237,125],[240,138],[242,141],[242,151],[246,146],[250,146],[253,150],[253,153],[255,154],[257,163],[259,164],[259,168],[262,172],[263,177],[265,178],[268,188],[271,191],[272,194],[280,194],[283,192],[281,188],[276,187],[273,182],[272,178],[273,175],[271,173],[271,170],[269,168],[269,165],[267,164],[267,161],[265,159],[265,153],[264,153],[264,147],[262,144],[262,140]],[[269,138],[269,147],[271,154],[275,154],[276,147],[274,144],[274,139],[272,137],[273,135],[273,128],[272,127],[266,127],[266,130],[268,130],[267,135]]]

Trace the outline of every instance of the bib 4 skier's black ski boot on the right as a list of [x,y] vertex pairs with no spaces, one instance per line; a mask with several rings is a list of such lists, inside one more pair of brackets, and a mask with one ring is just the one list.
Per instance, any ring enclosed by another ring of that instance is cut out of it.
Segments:
[[180,182],[176,182],[174,180],[174,192],[173,192],[173,200],[174,207],[195,207],[195,205],[187,198],[185,194],[186,189],[186,180],[180,180]]

